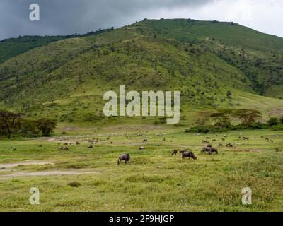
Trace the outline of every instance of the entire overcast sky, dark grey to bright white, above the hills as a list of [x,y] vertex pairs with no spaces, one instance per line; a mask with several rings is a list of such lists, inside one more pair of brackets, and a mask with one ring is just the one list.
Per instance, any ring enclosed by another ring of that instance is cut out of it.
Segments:
[[[31,22],[34,3],[40,21]],[[283,37],[282,0],[0,0],[0,40],[86,33],[144,18],[233,21]]]

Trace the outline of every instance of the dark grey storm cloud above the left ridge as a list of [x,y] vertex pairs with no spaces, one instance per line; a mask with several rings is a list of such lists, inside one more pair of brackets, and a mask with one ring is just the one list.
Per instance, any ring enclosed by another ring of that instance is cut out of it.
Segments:
[[[67,35],[120,27],[147,11],[199,7],[212,0],[1,0],[0,40],[18,35]],[[29,20],[30,4],[40,5],[40,21]],[[158,16],[158,15],[156,15]]]

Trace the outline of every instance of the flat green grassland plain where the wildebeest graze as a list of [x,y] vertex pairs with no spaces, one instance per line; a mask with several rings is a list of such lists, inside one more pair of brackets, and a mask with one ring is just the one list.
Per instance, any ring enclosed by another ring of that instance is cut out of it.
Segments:
[[[224,134],[208,135],[216,138],[213,145],[224,143],[219,155],[200,153],[207,136],[170,126],[73,128],[66,136],[1,141],[0,165],[20,165],[0,169],[0,210],[282,211],[283,132],[225,135],[226,141],[221,140]],[[239,141],[238,136],[249,136],[250,141]],[[98,143],[87,149],[93,138]],[[81,145],[58,150],[62,143],[74,141]],[[229,142],[234,148],[226,148]],[[145,150],[139,150],[141,145]],[[173,148],[185,147],[197,155],[197,161],[171,157]],[[122,153],[132,156],[130,165],[117,166]],[[26,165],[30,161],[50,164]],[[50,172],[55,174],[47,175]],[[34,186],[40,189],[37,206],[29,203]],[[241,190],[247,186],[253,191],[250,206],[241,203]]]

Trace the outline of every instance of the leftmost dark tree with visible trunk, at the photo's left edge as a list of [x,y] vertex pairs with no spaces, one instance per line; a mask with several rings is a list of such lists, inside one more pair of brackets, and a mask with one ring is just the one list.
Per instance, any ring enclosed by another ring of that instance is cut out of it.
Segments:
[[11,139],[13,129],[21,124],[21,114],[0,110],[0,124],[6,126],[8,139]]

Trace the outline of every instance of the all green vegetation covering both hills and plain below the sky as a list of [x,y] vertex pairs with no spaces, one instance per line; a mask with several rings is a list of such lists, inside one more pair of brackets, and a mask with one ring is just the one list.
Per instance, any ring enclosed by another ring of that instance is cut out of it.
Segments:
[[[282,38],[236,23],[145,19],[4,40],[0,52],[1,210],[282,210]],[[105,117],[103,94],[119,85],[180,90],[180,123]],[[219,155],[200,153],[204,140]],[[171,157],[175,148],[197,161]],[[117,166],[123,153],[132,162]],[[34,186],[38,206],[28,202]],[[247,186],[251,206],[241,203]]]

